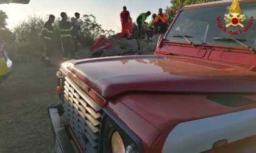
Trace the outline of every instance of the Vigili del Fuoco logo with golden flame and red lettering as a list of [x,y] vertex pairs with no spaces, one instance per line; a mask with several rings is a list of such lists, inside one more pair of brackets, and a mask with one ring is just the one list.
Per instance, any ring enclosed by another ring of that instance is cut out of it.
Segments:
[[[251,16],[249,24],[244,27],[243,21],[246,19],[245,15],[241,15],[241,9],[239,6],[238,0],[233,0],[232,5],[229,8],[229,12],[224,14],[224,20],[226,21],[226,25],[221,24],[221,16],[218,16],[216,20],[218,21],[218,28],[221,29],[223,32],[227,32],[230,35],[239,35],[244,32],[247,32],[252,26],[252,21],[254,21],[254,17]],[[227,27],[230,25],[232,26],[240,26],[243,29],[240,30],[229,30],[227,31]]]

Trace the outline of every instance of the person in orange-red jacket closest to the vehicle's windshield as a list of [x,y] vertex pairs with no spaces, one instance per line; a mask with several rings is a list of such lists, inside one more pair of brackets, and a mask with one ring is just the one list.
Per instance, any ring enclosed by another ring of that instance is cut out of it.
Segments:
[[[158,29],[158,27],[160,27]],[[166,31],[168,24],[166,22],[166,15],[162,12],[162,8],[158,9],[158,14],[154,20],[154,33],[163,33]]]

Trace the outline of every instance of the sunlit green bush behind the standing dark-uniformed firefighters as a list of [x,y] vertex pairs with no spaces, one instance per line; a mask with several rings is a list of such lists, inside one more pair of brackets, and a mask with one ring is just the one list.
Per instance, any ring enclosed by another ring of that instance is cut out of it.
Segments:
[[[18,54],[26,56],[41,55],[44,51],[44,44],[40,38],[41,29],[44,22],[48,20],[42,19],[41,16],[28,16],[26,21],[20,22],[14,28],[14,36],[16,36],[15,50]],[[59,33],[60,18],[55,18],[54,24],[54,48],[55,50],[62,52],[62,43]],[[103,30],[101,25],[96,22],[96,18],[93,15],[84,15],[80,19],[81,32],[80,43],[82,47],[90,47],[93,44],[94,39],[101,35],[105,35],[109,38],[115,33],[113,30]]]

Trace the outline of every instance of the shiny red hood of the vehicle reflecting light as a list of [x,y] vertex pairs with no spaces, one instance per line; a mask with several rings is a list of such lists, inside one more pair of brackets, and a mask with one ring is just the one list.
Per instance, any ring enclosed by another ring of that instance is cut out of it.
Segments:
[[104,98],[124,92],[255,92],[256,72],[195,58],[144,55],[73,60],[62,64],[68,75]]

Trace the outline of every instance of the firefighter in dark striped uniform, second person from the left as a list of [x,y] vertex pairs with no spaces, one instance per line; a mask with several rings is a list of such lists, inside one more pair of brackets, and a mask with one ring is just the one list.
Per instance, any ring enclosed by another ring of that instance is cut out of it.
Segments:
[[62,60],[74,59],[74,44],[72,36],[74,35],[74,26],[68,22],[68,16],[65,12],[60,13],[62,21],[60,21],[60,36],[62,37]]

